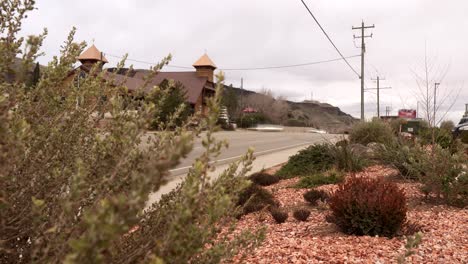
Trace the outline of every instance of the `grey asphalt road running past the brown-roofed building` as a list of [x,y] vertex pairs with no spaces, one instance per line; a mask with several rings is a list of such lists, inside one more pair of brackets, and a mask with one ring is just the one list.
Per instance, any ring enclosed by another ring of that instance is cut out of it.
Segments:
[[[215,134],[215,138],[227,139],[229,148],[224,149],[216,159],[217,164],[234,161],[246,153],[249,147],[254,148],[254,155],[271,154],[289,148],[332,141],[341,135],[293,133],[293,132],[257,132],[257,131],[223,131]],[[179,166],[171,170],[173,176],[187,173],[191,164],[204,149],[200,140],[196,140],[193,151]]]

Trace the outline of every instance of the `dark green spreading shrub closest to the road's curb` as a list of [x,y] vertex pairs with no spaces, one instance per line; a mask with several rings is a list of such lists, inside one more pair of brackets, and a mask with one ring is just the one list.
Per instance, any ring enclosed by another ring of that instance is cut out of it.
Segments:
[[276,175],[283,179],[303,176],[328,170],[333,164],[333,156],[328,145],[313,145],[291,156]]

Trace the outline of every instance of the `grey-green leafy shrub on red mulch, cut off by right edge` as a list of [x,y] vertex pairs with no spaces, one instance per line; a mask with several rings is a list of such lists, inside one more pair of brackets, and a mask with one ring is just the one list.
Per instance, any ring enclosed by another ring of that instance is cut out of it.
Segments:
[[451,154],[436,147],[424,159],[421,182],[427,194],[442,198],[447,204],[468,205],[468,162],[463,152]]

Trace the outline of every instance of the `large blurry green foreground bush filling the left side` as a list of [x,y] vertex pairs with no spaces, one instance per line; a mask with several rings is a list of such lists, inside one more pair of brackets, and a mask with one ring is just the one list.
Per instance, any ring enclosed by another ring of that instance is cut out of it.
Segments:
[[[161,101],[135,100],[141,94],[128,94],[102,64],[76,68],[85,43],[74,41],[75,29],[38,82],[27,84],[46,32],[17,37],[34,1],[0,6],[0,263],[218,263],[258,244],[260,233],[213,228],[234,221],[253,158],[250,151],[218,178],[208,176],[226,145],[213,137],[222,74],[208,115],[190,118],[200,125],[149,136],[167,90],[154,88]],[[177,113],[158,128],[171,127]],[[105,115],[112,118],[100,128]],[[147,208],[203,129],[205,150],[180,187]]]

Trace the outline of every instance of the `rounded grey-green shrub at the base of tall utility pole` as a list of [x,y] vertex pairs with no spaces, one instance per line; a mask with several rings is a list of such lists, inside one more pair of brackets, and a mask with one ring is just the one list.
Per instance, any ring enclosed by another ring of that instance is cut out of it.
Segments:
[[371,142],[390,144],[395,141],[392,128],[382,121],[356,123],[349,134],[351,143],[367,145]]

